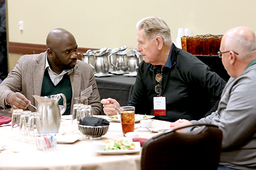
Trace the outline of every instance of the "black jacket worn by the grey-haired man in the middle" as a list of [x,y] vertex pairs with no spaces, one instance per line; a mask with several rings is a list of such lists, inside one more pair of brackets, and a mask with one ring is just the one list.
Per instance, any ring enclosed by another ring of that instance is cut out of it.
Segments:
[[[163,67],[162,96],[166,97],[166,116],[156,119],[175,122],[179,118],[198,120],[212,108],[211,100],[219,101],[226,82],[198,58],[173,44],[172,67]],[[136,114],[154,115],[153,98],[157,96],[155,80],[157,71],[153,65],[139,64],[138,75],[129,102]],[[212,108],[212,109],[211,109]]]

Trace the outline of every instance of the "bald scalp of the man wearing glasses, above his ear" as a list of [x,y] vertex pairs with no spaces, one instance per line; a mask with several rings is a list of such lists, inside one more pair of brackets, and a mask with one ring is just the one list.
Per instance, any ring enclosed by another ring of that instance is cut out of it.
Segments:
[[224,34],[222,45],[224,51],[232,50],[238,53],[242,60],[250,60],[251,53],[256,50],[255,34],[247,27],[236,27]]

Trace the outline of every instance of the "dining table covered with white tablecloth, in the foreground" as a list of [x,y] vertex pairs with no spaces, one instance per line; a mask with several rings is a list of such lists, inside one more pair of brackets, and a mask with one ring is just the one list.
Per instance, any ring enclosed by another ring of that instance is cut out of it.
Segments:
[[[93,141],[106,142],[114,139],[126,139],[121,131],[121,123],[109,119],[106,115],[95,115],[108,119],[108,132],[101,139],[88,139],[77,126],[72,125],[71,116],[61,116],[60,131],[67,140],[60,140],[56,149],[37,150],[35,141],[20,141],[12,135],[11,126],[0,127],[0,145],[5,144],[0,151],[0,170],[5,169],[140,169],[141,151],[130,154],[102,154],[92,148]],[[169,129],[170,122],[152,119],[151,130]],[[141,128],[140,122],[135,123],[135,132],[139,138],[151,138],[160,133],[153,133]],[[71,140],[74,136],[78,139]],[[70,140],[69,140],[70,139]]]

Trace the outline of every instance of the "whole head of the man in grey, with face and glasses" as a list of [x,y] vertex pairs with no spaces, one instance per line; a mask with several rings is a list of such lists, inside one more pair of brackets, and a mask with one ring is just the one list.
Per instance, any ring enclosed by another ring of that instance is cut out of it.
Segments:
[[222,64],[232,78],[238,78],[248,64],[256,59],[256,39],[247,27],[228,30],[222,40],[220,51]]

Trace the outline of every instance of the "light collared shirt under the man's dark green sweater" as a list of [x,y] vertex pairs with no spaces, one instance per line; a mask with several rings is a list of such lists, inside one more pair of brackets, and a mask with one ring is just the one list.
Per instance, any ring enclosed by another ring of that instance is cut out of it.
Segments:
[[47,55],[46,55],[46,67],[45,69],[48,69],[48,74],[51,78],[51,81],[52,83],[56,86],[60,81],[61,79],[63,78],[63,76],[68,73],[68,75],[70,75],[72,72],[73,72],[73,68],[72,69],[65,69],[63,70],[59,75],[56,74],[56,72],[54,72],[51,68],[50,68],[50,65],[48,63],[48,59],[47,59]]

